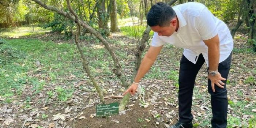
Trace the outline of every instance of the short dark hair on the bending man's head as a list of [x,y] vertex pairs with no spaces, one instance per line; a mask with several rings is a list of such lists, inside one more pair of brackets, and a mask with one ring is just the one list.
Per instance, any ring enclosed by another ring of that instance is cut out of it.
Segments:
[[176,16],[172,7],[166,3],[159,2],[154,4],[147,13],[147,25],[152,26],[169,26],[170,21]]

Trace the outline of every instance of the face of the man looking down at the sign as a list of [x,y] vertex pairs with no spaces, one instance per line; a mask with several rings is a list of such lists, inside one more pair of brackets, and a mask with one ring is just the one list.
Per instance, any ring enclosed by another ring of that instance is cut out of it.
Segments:
[[176,30],[176,26],[177,26],[177,20],[173,19],[170,21],[170,25],[169,26],[165,26],[165,27],[160,27],[160,26],[152,26],[151,29],[158,33],[159,36],[171,36],[174,31]]

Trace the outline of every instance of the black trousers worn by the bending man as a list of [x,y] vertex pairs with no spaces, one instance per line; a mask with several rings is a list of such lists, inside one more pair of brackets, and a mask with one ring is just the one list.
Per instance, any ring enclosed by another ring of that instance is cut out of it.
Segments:
[[[189,123],[193,120],[191,114],[192,95],[195,85],[196,75],[199,69],[204,64],[204,57],[199,55],[196,64],[189,61],[184,55],[182,55],[180,61],[180,74],[179,74],[179,117],[180,122]],[[227,79],[229,74],[231,63],[231,54],[229,57],[219,63],[218,72],[223,78]],[[207,69],[208,71],[208,69]],[[224,88],[220,88],[215,84],[215,92],[212,91],[211,81],[208,79],[208,93],[211,94],[211,106],[212,106],[212,119],[211,124],[213,128],[226,128],[227,126],[227,90],[226,80]]]

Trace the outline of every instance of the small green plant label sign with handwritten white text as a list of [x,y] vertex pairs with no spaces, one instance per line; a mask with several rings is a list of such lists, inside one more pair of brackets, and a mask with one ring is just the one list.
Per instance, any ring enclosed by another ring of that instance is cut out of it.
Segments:
[[118,114],[118,106],[118,102],[96,105],[96,116],[100,117]]

